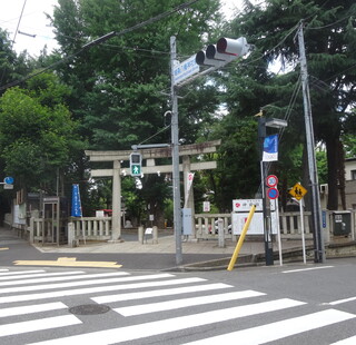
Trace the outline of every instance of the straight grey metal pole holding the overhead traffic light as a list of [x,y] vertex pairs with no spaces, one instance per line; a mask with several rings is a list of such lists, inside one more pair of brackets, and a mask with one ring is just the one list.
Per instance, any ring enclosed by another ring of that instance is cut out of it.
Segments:
[[180,209],[180,179],[179,179],[179,135],[178,135],[178,95],[175,87],[175,61],[177,59],[176,37],[170,37],[170,97],[171,97],[171,157],[174,185],[174,227],[176,238],[176,264],[182,263],[181,256],[181,209]]

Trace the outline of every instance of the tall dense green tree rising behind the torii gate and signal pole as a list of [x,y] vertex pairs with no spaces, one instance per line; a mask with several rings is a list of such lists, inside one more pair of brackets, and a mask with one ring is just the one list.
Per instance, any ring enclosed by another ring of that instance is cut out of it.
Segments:
[[[70,63],[58,67],[60,78],[72,87],[69,108],[81,124],[80,132],[88,138],[90,149],[130,149],[131,145],[145,141],[169,142],[169,122],[164,114],[170,108],[169,97],[169,38],[175,34],[179,59],[192,55],[201,47],[201,32],[209,32],[219,17],[217,0],[195,3],[191,8],[138,30],[118,34],[102,45],[82,50],[82,47],[109,32],[120,32],[140,22],[155,18],[181,4],[179,0],[59,0],[53,13],[53,26],[60,52],[75,55]],[[209,10],[208,10],[209,9]],[[80,52],[81,51],[81,52]],[[80,52],[80,53],[78,53]],[[181,136],[194,142],[201,121],[211,117],[217,106],[211,88],[200,83],[208,102],[199,111],[197,92],[190,92],[189,101],[179,105]],[[210,111],[207,111],[208,107]],[[160,179],[145,181],[144,193],[132,190],[139,199],[162,203],[166,188],[158,188]],[[149,193],[145,193],[146,189]],[[150,196],[150,197],[149,197]],[[128,195],[123,195],[128,197]],[[132,199],[132,198],[130,198]]]

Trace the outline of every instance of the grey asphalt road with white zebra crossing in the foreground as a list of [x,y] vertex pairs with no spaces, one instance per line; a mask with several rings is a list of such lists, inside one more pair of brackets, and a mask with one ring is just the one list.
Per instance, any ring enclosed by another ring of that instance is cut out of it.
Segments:
[[0,342],[355,344],[355,264],[191,273],[2,266]]

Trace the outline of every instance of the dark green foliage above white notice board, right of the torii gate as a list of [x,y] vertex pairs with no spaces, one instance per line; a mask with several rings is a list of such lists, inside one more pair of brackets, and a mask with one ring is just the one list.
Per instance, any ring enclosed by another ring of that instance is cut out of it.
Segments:
[[218,154],[207,155],[218,161],[218,168],[201,175],[212,190],[212,203],[220,211],[229,211],[233,199],[251,198],[259,186],[257,120],[226,116],[209,134],[209,139],[219,138],[222,141]]

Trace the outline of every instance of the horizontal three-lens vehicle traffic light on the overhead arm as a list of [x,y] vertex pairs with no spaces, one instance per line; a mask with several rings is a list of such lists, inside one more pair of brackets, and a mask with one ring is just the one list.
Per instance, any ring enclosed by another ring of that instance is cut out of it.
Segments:
[[220,38],[216,45],[209,45],[206,51],[200,50],[196,55],[197,65],[220,67],[234,61],[250,50],[245,37],[238,39]]

